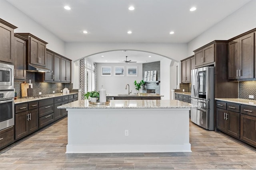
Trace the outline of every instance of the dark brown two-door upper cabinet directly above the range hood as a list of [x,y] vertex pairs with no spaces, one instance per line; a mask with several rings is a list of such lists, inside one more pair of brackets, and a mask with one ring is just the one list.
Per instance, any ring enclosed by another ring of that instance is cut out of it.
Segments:
[[46,42],[30,33],[17,33],[28,39],[27,42],[27,64],[46,66]]

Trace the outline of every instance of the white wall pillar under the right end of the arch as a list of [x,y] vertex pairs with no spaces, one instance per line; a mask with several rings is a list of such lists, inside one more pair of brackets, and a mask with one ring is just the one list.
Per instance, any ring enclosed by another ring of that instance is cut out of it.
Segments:
[[170,100],[170,64],[172,60],[164,58],[160,60],[160,94],[163,100]]

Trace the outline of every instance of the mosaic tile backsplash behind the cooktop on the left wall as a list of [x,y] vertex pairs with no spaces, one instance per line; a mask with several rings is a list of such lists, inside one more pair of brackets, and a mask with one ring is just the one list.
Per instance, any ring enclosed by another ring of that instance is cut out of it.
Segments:
[[[31,83],[33,84],[33,96],[39,95],[39,92],[42,92],[42,95],[52,94],[52,91],[55,91],[55,93],[60,93],[60,90],[62,90],[63,88],[68,88],[70,92],[73,92],[72,83],[34,82],[34,72],[26,72],[26,83],[29,83],[29,80],[31,80]],[[17,92],[17,96],[21,96],[21,89],[20,89],[21,83],[23,82],[22,81],[14,82],[14,88],[15,88],[15,92]]]

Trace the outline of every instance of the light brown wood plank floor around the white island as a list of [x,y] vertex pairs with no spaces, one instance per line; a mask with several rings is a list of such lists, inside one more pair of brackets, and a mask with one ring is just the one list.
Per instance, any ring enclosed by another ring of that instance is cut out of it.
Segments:
[[192,152],[65,154],[67,117],[0,151],[0,170],[256,169],[256,149],[190,122]]

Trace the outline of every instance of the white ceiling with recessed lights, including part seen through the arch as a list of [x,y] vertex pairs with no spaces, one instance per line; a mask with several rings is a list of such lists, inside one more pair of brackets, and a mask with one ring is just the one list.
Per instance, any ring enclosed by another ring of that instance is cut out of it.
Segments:
[[[188,43],[250,0],[7,1],[65,42]],[[71,10],[65,10],[66,5]],[[128,10],[131,5],[135,10]],[[197,10],[190,12],[193,6]],[[82,33],[84,30],[88,34]],[[129,30],[132,34],[127,33]],[[123,53],[116,53],[103,55],[112,56],[117,63],[115,55]],[[142,53],[136,53],[139,54]],[[123,56],[125,60],[126,55]],[[150,61],[146,57],[133,59],[131,54],[128,57],[138,63]],[[97,63],[111,61],[110,57],[102,58],[98,57]]]

